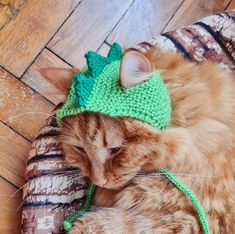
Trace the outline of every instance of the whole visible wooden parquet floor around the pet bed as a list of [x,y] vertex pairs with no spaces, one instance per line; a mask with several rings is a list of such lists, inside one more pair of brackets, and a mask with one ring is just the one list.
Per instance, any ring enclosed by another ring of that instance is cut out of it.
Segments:
[[0,233],[20,233],[27,154],[64,98],[38,68],[82,68],[87,50],[135,45],[232,8],[235,0],[0,0]]

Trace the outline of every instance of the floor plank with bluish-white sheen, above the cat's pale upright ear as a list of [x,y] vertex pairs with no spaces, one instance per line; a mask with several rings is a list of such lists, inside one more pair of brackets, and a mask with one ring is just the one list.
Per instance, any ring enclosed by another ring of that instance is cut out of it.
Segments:
[[157,36],[182,0],[136,0],[118,26],[107,39],[109,44],[117,41],[124,47]]

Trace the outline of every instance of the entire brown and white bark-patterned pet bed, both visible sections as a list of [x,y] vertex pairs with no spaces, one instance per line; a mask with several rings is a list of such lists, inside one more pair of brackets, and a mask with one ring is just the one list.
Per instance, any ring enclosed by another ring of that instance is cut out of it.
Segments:
[[[206,17],[192,26],[143,42],[135,49],[146,52],[155,46],[182,53],[197,62],[210,59],[235,72],[235,11]],[[84,200],[86,183],[79,171],[63,163],[53,115],[35,139],[27,163],[24,234],[61,233],[65,215],[77,210]]]

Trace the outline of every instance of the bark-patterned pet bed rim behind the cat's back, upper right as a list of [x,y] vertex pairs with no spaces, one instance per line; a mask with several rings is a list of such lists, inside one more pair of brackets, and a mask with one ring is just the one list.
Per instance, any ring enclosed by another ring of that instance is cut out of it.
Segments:
[[135,48],[145,52],[155,46],[181,53],[196,62],[209,59],[234,72],[235,11],[208,16],[192,26],[164,33]]

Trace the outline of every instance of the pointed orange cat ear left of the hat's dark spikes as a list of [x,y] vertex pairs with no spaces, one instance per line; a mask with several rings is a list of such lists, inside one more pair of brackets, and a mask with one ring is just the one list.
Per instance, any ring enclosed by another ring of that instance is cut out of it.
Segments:
[[76,68],[42,68],[39,72],[62,93],[67,94],[72,85],[73,75],[80,71]]

